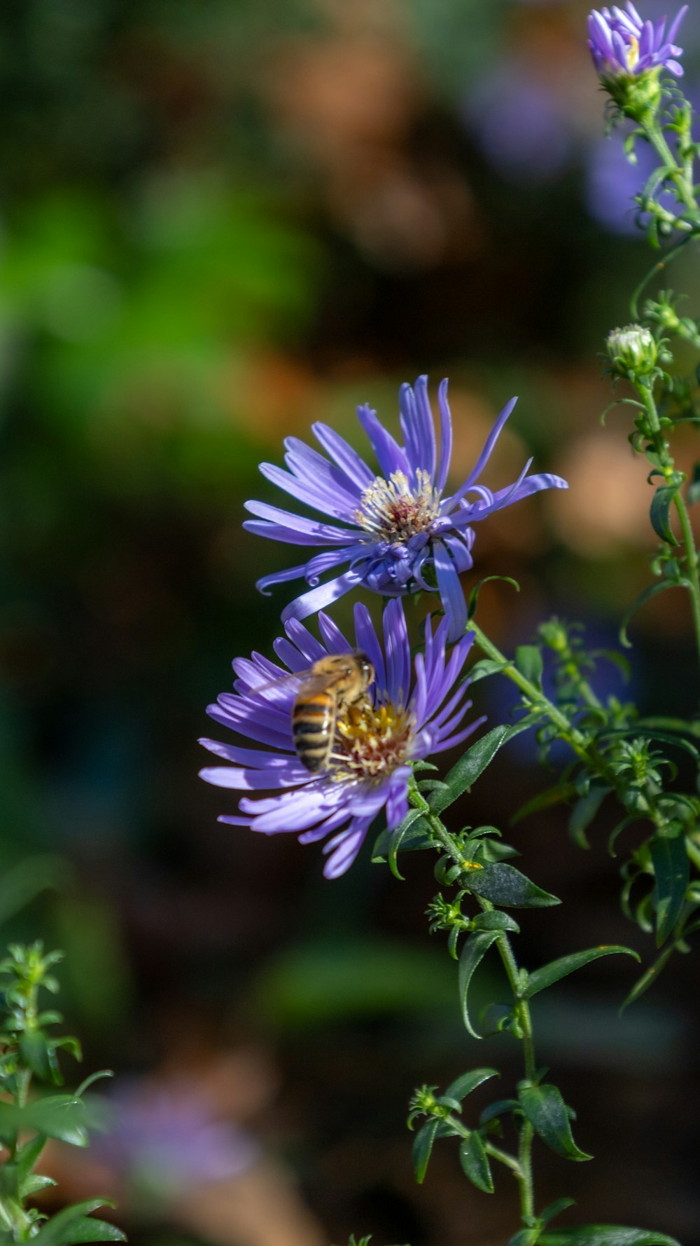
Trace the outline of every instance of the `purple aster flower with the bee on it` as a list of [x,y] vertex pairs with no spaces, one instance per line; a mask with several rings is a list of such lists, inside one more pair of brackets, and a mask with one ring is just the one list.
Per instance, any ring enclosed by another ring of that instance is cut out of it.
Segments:
[[[273,791],[253,800],[244,795],[239,814],[224,814],[220,822],[249,826],[264,835],[280,831],[299,834],[300,844],[314,844],[330,835],[324,873],[336,878],[352,865],[374,819],[385,812],[394,829],[409,811],[411,763],[442,753],[466,740],[483,721],[462,726],[471,706],[465,700],[466,683],[455,683],[472,643],[463,635],[446,654],[447,619],[435,632],[426,623],[425,653],[415,658],[411,675],[409,633],[400,601],[384,609],[384,647],[380,644],[366,606],[355,606],[355,644],[335,623],[319,614],[323,643],[303,623],[289,619],[286,639],[278,638],[275,653],[283,667],[259,653],[238,658],[235,692],[222,693],[208,714],[217,723],[248,736],[260,749],[202,740],[227,766],[201,771],[207,782],[237,791]],[[294,674],[306,673],[328,654],[355,649],[366,654],[376,679],[367,695],[339,715],[329,766],[313,775],[294,751],[291,709],[299,690]]]

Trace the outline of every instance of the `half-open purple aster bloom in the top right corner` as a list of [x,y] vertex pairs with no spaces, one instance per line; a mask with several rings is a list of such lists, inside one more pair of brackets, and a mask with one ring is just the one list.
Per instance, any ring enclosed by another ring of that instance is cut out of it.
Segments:
[[666,31],[665,17],[643,21],[631,0],[627,12],[618,5],[600,12],[594,9],[588,17],[588,46],[603,81],[636,77],[646,70],[669,70],[680,77],[683,66],[675,57],[683,55],[683,47],[676,47],[674,39],[686,12],[684,5]]

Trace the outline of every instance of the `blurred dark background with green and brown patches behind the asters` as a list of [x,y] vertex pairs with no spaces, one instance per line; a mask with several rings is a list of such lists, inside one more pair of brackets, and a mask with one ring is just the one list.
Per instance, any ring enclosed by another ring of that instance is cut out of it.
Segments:
[[[258,462],[315,419],[360,447],[355,405],[394,420],[419,373],[451,378],[456,477],[519,394],[487,483],[534,454],[572,485],[480,530],[475,578],[522,586],[483,594],[494,639],[558,612],[614,643],[648,582],[644,468],[624,407],[598,424],[597,358],[650,263],[629,208],[643,174],[604,137],[585,15],[574,0],[2,6],[0,917],[7,938],[66,949],[64,1008],[117,1101],[122,1087],[122,1141],[57,1154],[56,1172],[66,1195],[116,1194],[146,1246],[351,1230],[496,1246],[516,1227],[507,1180],[480,1195],[447,1145],[412,1182],[415,1084],[475,1063],[519,1075],[514,1047],[486,1054],[461,1029],[422,917],[426,860],[399,883],[365,851],[324,882],[293,837],[217,824],[233,801],[198,781],[196,739],[230,659],[269,649],[288,599],[254,579],[294,549],[240,527],[245,497],[278,501]],[[698,314],[696,259],[675,283]],[[681,466],[693,456],[688,440]],[[683,599],[664,594],[633,637],[633,693],[691,709]],[[496,720],[509,701],[490,683],[475,695]],[[546,781],[518,738],[465,819],[507,827]],[[650,954],[618,913],[604,831],[587,855],[557,815],[513,832],[565,901],[524,920],[528,963],[598,941]],[[582,1221],[694,1246],[693,957],[618,1022],[631,973],[605,959],[536,1014],[597,1155],[541,1154],[539,1204],[572,1192]]]

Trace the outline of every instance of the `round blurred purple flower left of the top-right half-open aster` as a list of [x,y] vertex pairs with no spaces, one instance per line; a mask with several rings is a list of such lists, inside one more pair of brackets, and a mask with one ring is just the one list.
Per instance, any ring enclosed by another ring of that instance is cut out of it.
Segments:
[[466,115],[506,177],[546,181],[572,151],[572,125],[560,95],[514,62],[502,65],[471,92]]

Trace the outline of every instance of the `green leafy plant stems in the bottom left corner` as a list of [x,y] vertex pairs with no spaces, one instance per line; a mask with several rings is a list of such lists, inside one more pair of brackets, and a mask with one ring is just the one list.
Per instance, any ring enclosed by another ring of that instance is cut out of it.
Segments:
[[[42,992],[56,994],[54,967],[60,952],[44,952],[40,942],[11,944],[0,962],[0,1246],[31,1241],[36,1246],[72,1246],[77,1242],[123,1241],[120,1229],[91,1212],[107,1204],[91,1199],[64,1207],[51,1219],[27,1205],[51,1177],[35,1171],[49,1139],[87,1146],[93,1123],[83,1099],[87,1087],[106,1074],[87,1078],[73,1093],[37,1095],[34,1082],[62,1085],[57,1053],[81,1059],[77,1039],[54,1033],[62,1020],[41,1007]],[[111,1204],[107,1204],[111,1205]]]

